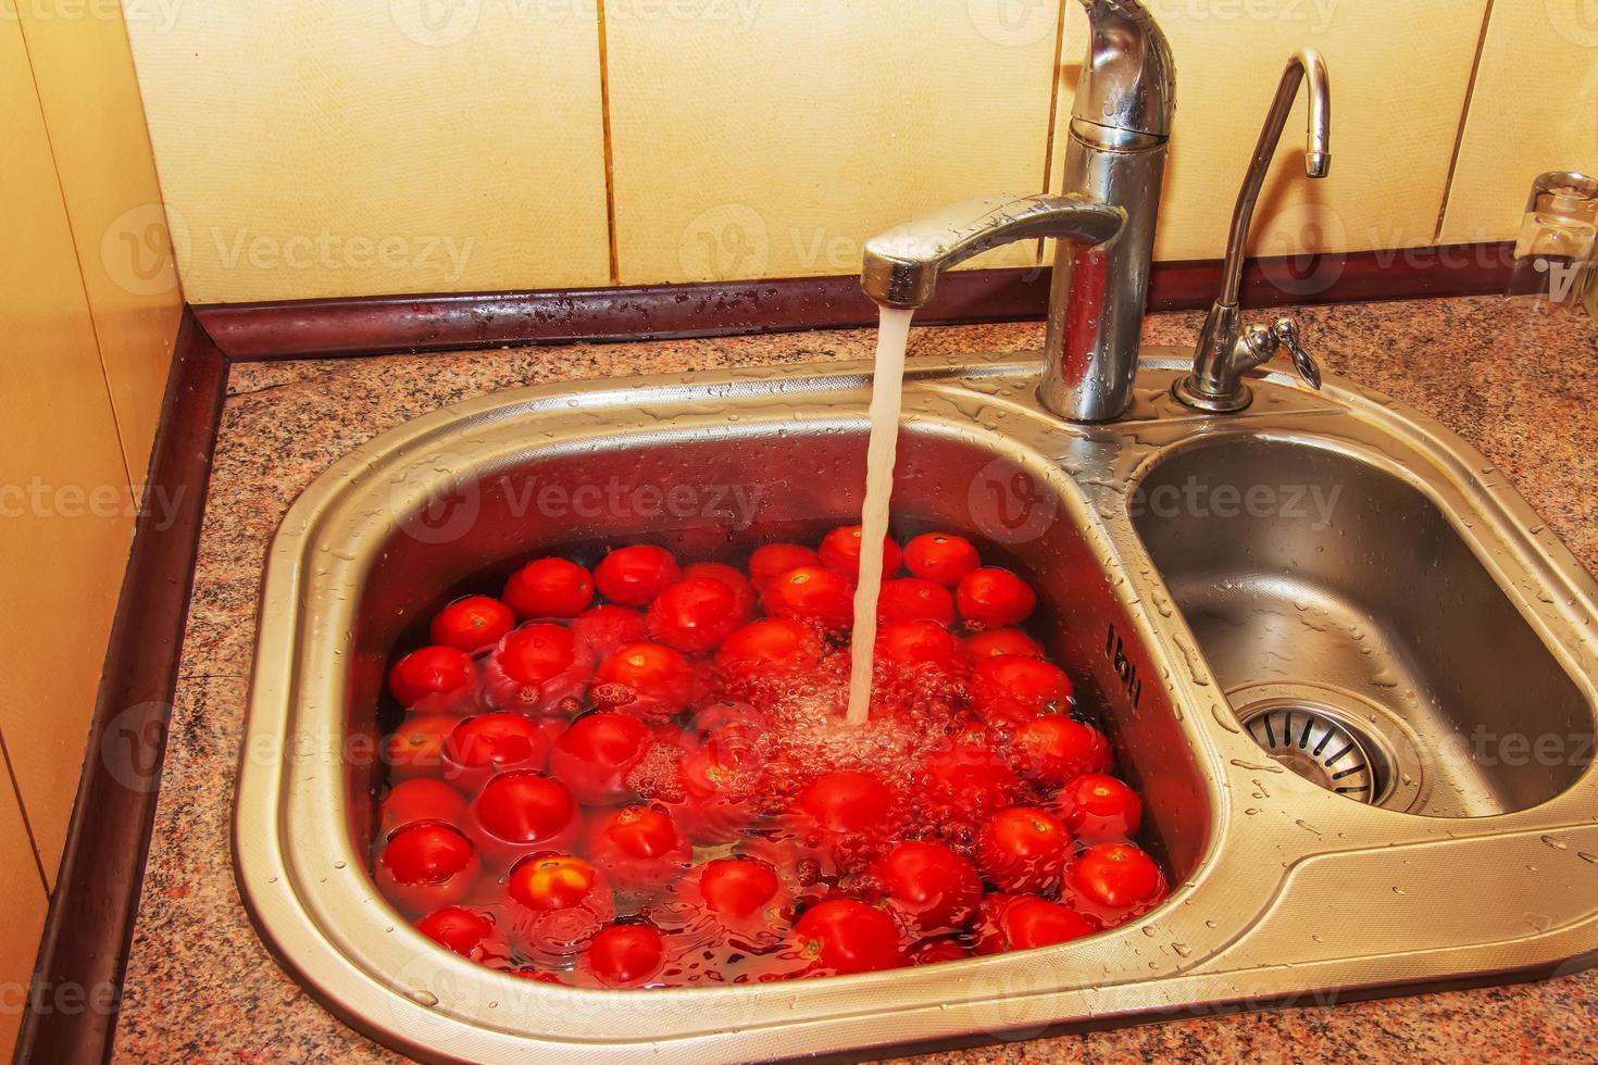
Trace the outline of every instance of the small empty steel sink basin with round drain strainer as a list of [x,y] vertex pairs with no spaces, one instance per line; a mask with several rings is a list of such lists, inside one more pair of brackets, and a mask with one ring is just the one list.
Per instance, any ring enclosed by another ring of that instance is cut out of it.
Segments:
[[1392,810],[1536,806],[1582,774],[1592,712],[1424,471],[1334,436],[1200,437],[1141,482],[1138,535],[1267,749]]

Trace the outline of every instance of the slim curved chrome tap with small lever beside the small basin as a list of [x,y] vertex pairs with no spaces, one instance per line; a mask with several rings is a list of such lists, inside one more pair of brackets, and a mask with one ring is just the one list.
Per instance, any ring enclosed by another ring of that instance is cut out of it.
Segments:
[[1243,187],[1237,193],[1232,211],[1232,230],[1226,244],[1226,268],[1221,276],[1221,295],[1210,307],[1194,350],[1194,372],[1176,382],[1171,391],[1189,407],[1213,414],[1229,414],[1245,409],[1253,393],[1243,383],[1243,374],[1269,362],[1280,348],[1293,356],[1293,367],[1310,388],[1320,388],[1320,367],[1304,350],[1298,327],[1291,318],[1278,318],[1266,326],[1243,326],[1243,310],[1238,292],[1243,284],[1243,247],[1248,243],[1248,227],[1254,217],[1259,190],[1277,152],[1277,142],[1288,123],[1299,85],[1309,85],[1309,134],[1304,147],[1304,172],[1325,177],[1331,171],[1331,81],[1326,61],[1318,51],[1306,48],[1288,59],[1277,96],[1266,115],[1266,128],[1248,161]]

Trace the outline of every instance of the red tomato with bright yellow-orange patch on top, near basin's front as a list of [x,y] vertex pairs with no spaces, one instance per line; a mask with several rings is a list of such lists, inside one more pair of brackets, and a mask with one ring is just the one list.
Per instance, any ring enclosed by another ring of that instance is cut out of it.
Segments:
[[572,854],[535,854],[505,885],[511,942],[539,961],[583,950],[615,918],[604,873]]

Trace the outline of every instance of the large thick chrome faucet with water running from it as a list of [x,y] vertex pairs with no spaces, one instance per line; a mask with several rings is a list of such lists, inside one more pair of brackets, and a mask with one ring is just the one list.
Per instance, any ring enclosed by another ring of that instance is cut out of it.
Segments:
[[1063,418],[1109,422],[1131,404],[1138,372],[1176,69],[1139,0],[1080,2],[1088,54],[1064,193],[978,200],[901,225],[866,244],[860,283],[884,307],[916,308],[957,262],[1015,240],[1058,238],[1039,399]]

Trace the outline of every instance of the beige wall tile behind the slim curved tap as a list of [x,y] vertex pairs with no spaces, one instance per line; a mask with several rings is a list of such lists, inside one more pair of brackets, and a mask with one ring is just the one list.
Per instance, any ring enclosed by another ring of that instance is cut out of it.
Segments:
[[[1333,164],[1304,177],[1304,101],[1254,214],[1251,254],[1430,244],[1486,0],[1149,0],[1176,57],[1176,123],[1155,257],[1214,259],[1282,69],[1331,70]],[[1071,6],[1061,128],[1087,19]]]

